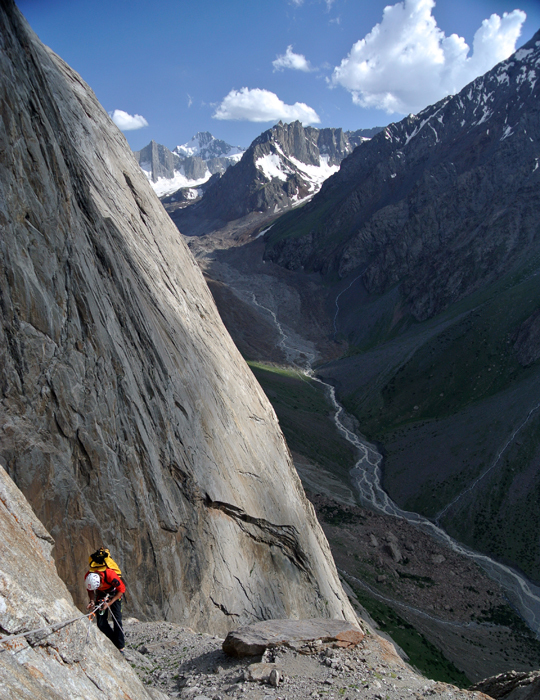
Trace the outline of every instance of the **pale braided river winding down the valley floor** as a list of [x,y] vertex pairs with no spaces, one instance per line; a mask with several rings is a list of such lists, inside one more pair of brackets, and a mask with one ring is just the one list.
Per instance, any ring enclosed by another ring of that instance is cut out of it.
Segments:
[[[280,334],[280,341],[277,345],[285,354],[287,362],[290,363],[294,369],[302,372],[306,377],[309,377],[325,387],[330,402],[334,407],[333,419],[337,430],[345,440],[357,450],[358,459],[350,472],[350,476],[357,489],[360,501],[385,515],[401,518],[412,523],[423,532],[429,534],[436,541],[450,547],[454,552],[468,557],[482,567],[491,579],[500,584],[506,592],[510,603],[519,610],[529,627],[540,639],[540,587],[527,580],[522,574],[511,567],[501,564],[491,559],[486,554],[476,552],[457,542],[450,537],[438,523],[418,513],[402,510],[394,503],[381,486],[382,455],[377,451],[374,445],[370,444],[355,430],[347,427],[347,425],[354,425],[354,421],[347,416],[343,406],[338,402],[335,388],[314,374],[312,364],[317,357],[315,349],[310,348],[311,344],[303,341],[303,339],[299,338],[293,331],[286,333],[276,312],[261,304],[257,300],[255,293],[251,292],[250,296],[250,301],[269,314],[275,323]],[[338,300],[336,300],[334,328],[336,327],[338,313],[339,305]],[[537,408],[540,408],[540,405]],[[507,441],[506,445],[501,449],[501,453],[506,449],[508,443],[509,441]],[[459,496],[454,499],[454,502],[458,499]],[[453,505],[453,503],[449,504],[448,507],[451,505]]]

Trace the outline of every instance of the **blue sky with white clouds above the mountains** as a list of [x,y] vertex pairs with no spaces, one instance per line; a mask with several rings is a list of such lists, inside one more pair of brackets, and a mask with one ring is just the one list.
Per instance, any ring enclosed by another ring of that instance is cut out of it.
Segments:
[[539,0],[17,4],[105,109],[126,113],[117,123],[148,124],[125,131],[135,150],[151,139],[173,148],[197,131],[245,147],[280,118],[388,124],[459,90],[540,29]]

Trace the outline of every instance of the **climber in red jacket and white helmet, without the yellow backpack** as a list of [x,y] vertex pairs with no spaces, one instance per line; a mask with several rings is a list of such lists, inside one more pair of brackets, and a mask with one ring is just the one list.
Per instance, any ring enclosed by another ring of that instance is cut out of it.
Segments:
[[[88,591],[88,610],[97,610],[97,624],[114,646],[124,651],[124,630],[122,629],[122,595],[126,586],[120,576],[112,569],[105,571],[88,571],[85,575]],[[100,603],[102,605],[100,606]],[[113,626],[109,625],[109,609],[112,614]]]

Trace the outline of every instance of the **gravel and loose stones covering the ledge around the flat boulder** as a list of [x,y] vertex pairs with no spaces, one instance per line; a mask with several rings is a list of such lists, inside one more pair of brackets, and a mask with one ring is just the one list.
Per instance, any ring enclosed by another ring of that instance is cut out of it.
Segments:
[[[357,646],[313,643],[234,658],[223,639],[169,622],[125,623],[125,658],[143,683],[186,700],[490,700],[415,673],[385,640],[367,633]],[[268,667],[268,671],[263,667]]]

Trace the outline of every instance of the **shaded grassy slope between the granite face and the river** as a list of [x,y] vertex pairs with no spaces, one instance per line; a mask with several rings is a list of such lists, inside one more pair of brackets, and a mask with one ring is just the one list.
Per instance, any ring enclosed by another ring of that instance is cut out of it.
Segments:
[[289,448],[349,484],[356,453],[337,431],[324,387],[297,370],[248,364],[274,407]]

